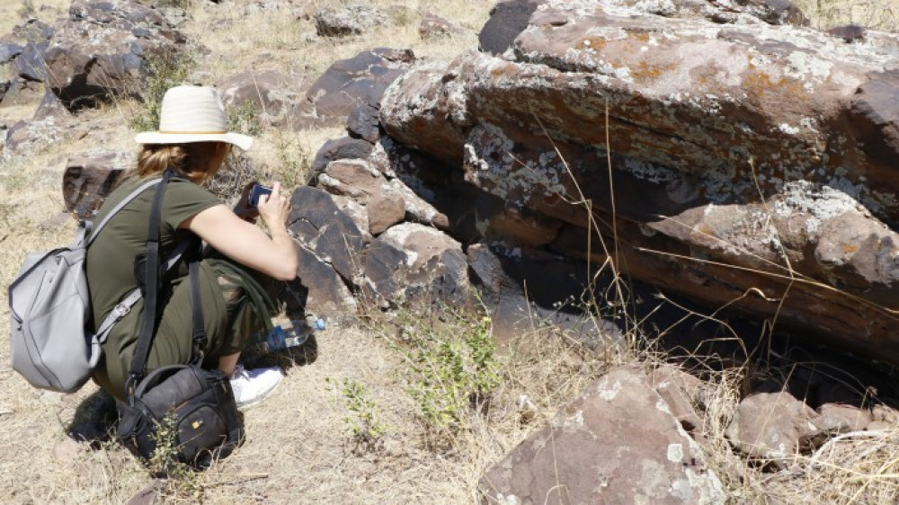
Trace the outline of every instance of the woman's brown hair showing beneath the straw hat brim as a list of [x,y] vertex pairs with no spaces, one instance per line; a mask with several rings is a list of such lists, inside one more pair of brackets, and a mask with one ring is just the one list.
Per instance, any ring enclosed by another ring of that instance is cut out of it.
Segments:
[[[200,184],[212,177],[219,166],[210,166],[220,142],[191,142],[189,144],[145,144],[138,154],[138,166],[133,175],[151,177],[172,169],[192,182]],[[230,144],[225,144],[230,149]]]

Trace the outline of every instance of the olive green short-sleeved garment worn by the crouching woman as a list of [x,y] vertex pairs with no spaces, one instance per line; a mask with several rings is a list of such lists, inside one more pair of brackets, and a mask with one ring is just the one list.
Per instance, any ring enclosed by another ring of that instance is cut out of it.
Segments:
[[[94,217],[94,223],[100,223],[103,217],[124,199],[131,191],[146,182],[146,179],[134,179],[123,183],[112,191],[109,198]],[[103,227],[100,235],[94,239],[87,252],[87,279],[93,306],[93,325],[102,323],[103,318],[120,300],[137,288],[134,276],[134,260],[147,250],[147,232],[149,228],[150,208],[156,194],[153,186],[137,198],[129,202],[125,208],[110,219]],[[173,178],[165,190],[160,213],[160,261],[165,261],[182,240],[191,237],[191,232],[179,229],[185,220],[196,216],[202,210],[214,207],[222,202],[209,190],[186,179]],[[186,362],[191,358],[191,309],[189,283],[185,289],[179,289],[181,280],[187,275],[187,265],[180,262],[167,278],[172,279],[171,290],[160,293],[158,304],[165,310],[162,321],[156,332],[153,350],[147,359],[147,370],[157,366]],[[203,268],[201,275],[201,298],[204,306],[205,325],[208,330],[216,332],[224,325],[222,317],[216,311],[222,310],[220,289],[215,275],[208,268]],[[177,294],[177,291],[185,293]],[[207,308],[209,304],[209,308]],[[172,305],[172,306],[168,306]],[[165,308],[163,308],[165,307]],[[94,370],[94,380],[110,389],[111,393],[121,397],[124,380],[127,377],[131,355],[137,341],[140,313],[143,300],[133,306],[128,315],[113,327],[109,337],[103,344],[103,359]]]

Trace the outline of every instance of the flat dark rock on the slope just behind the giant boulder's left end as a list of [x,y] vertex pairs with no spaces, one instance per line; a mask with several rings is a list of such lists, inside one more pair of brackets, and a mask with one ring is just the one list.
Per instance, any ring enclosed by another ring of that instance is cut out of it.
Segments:
[[411,50],[372,49],[339,60],[307,92],[319,115],[346,118],[360,104],[377,110],[387,86],[414,61]]

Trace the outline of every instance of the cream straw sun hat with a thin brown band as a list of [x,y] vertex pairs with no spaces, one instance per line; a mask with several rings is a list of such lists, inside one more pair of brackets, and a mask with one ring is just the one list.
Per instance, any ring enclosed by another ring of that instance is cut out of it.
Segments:
[[209,87],[182,85],[165,92],[159,111],[159,131],[138,133],[138,144],[227,142],[247,150],[253,137],[227,131],[227,115],[218,92]]

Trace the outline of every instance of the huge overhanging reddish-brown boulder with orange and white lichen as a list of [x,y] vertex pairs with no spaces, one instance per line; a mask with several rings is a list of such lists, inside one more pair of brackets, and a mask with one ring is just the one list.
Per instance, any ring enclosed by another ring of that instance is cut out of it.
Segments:
[[615,244],[635,279],[899,363],[899,35],[847,44],[773,0],[590,5],[415,66],[382,126],[503,201],[485,236]]

